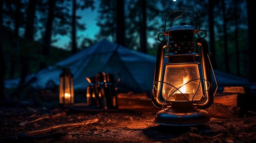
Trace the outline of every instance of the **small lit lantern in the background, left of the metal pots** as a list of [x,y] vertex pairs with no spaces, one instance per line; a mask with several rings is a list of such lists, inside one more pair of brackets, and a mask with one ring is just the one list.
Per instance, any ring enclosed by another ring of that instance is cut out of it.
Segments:
[[70,72],[69,68],[63,68],[63,71],[60,74],[59,103],[60,104],[74,103],[73,75]]

